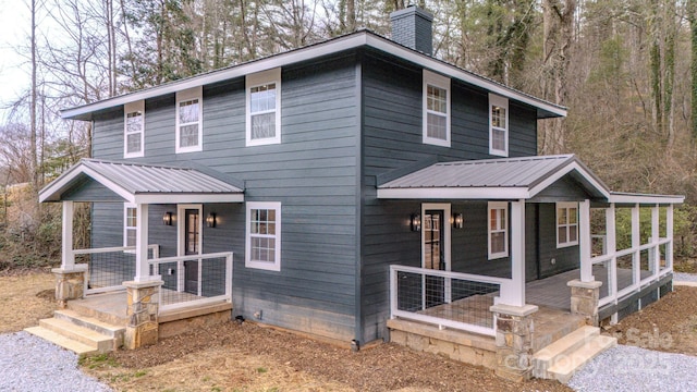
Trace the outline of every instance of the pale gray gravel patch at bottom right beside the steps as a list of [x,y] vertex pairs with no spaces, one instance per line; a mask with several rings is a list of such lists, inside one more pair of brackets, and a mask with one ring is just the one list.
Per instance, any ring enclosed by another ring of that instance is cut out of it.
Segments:
[[579,392],[697,391],[697,357],[619,345],[568,382]]

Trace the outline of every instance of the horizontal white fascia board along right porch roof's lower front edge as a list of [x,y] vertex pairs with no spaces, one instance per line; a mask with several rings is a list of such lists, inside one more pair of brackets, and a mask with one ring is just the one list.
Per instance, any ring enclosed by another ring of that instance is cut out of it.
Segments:
[[380,199],[510,200],[529,198],[526,187],[418,187],[378,189]]

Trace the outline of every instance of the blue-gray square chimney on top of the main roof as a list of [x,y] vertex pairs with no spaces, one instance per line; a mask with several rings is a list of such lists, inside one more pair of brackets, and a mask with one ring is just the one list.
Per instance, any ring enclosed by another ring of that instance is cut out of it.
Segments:
[[416,5],[390,14],[392,40],[416,49],[428,56],[433,54],[433,15]]

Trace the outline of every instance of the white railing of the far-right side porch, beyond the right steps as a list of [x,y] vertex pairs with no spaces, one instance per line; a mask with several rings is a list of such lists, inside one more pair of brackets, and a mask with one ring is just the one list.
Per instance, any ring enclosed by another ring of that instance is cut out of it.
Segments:
[[672,240],[659,238],[649,244],[591,257],[592,273],[603,284],[600,286],[598,305],[616,304],[671,272],[672,252]]

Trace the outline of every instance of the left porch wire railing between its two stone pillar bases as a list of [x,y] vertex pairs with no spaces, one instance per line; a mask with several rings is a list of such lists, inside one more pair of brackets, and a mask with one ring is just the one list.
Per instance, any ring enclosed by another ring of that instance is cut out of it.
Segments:
[[[148,257],[159,257],[159,245],[148,245]],[[114,246],[93,249],[73,249],[77,264],[86,264],[85,294],[124,290],[121,284],[135,275],[135,246]]]

